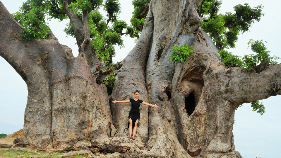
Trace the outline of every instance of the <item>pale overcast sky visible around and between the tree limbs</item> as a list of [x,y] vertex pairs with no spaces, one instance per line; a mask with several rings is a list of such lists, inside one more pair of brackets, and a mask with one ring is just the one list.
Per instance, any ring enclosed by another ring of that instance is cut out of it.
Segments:
[[[24,0],[1,0],[10,13],[16,12]],[[133,6],[128,0],[119,0],[121,3],[120,19],[128,24],[133,12]],[[281,57],[280,54],[280,18],[277,15],[281,6],[280,1],[268,0],[235,0],[223,1],[220,9],[221,13],[233,11],[237,4],[249,3],[251,7],[262,4],[265,16],[260,22],[256,22],[250,28],[251,32],[239,35],[235,49],[230,49],[235,55],[243,56],[252,53],[246,44],[250,39],[268,41],[266,47],[271,51],[271,55]],[[76,40],[67,37],[63,32],[65,23],[57,20],[49,22],[51,30],[59,39],[61,44],[72,48],[73,55],[78,55]],[[135,43],[128,37],[123,37],[125,47],[116,47],[116,57],[113,61],[121,61],[132,50]],[[280,63],[281,60],[278,61]],[[27,86],[17,72],[0,57],[0,134],[11,134],[23,128],[24,110],[27,101]],[[234,94],[235,95],[235,94]],[[252,112],[251,105],[245,104],[235,112],[235,123],[233,129],[235,150],[241,153],[244,158],[266,157],[276,158],[281,155],[281,96],[273,96],[262,100],[265,106],[265,114],[260,115]]]

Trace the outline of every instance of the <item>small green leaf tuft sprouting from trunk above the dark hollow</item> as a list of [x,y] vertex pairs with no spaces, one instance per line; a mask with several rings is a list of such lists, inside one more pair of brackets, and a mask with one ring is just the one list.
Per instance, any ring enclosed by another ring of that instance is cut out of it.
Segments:
[[172,47],[172,52],[169,54],[171,55],[171,64],[172,63],[182,63],[193,53],[192,46],[187,44],[185,45],[174,45]]

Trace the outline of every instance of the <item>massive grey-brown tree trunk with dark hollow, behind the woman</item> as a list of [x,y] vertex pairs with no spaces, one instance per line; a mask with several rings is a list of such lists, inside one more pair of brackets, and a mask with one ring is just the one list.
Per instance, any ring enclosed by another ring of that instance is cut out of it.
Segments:
[[[121,62],[112,93],[113,99],[128,100],[139,90],[140,99],[159,105],[141,106],[132,142],[124,139],[131,105],[110,104],[105,85],[92,75],[95,55],[86,59],[91,47],[86,56],[73,57],[52,33],[24,42],[24,28],[0,2],[0,55],[28,86],[24,141],[41,148],[66,148],[81,140],[116,143],[144,157],[241,157],[232,135],[235,109],[281,94],[281,64],[259,73],[223,65],[200,29],[200,3],[150,2],[140,39]],[[193,46],[193,55],[170,64],[172,46],[183,44]]]

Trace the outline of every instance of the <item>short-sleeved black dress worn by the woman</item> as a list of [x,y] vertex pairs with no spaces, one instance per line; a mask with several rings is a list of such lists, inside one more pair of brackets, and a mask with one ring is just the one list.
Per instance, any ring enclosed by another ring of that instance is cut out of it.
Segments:
[[[140,103],[142,103],[143,101],[138,99],[137,101],[135,101],[135,99],[130,99],[130,102],[132,103],[132,107],[129,113],[129,119],[132,119],[133,122],[133,128],[135,126],[135,123],[137,120],[140,120]],[[130,125],[130,121],[128,121],[128,128]]]

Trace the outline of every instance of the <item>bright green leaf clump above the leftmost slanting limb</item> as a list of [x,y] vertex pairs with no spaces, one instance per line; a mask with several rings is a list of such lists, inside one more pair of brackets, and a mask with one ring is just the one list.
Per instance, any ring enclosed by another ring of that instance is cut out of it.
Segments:
[[12,16],[25,30],[22,40],[32,42],[34,39],[46,39],[50,28],[45,22],[45,4],[42,0],[28,0],[23,3],[19,11]]

